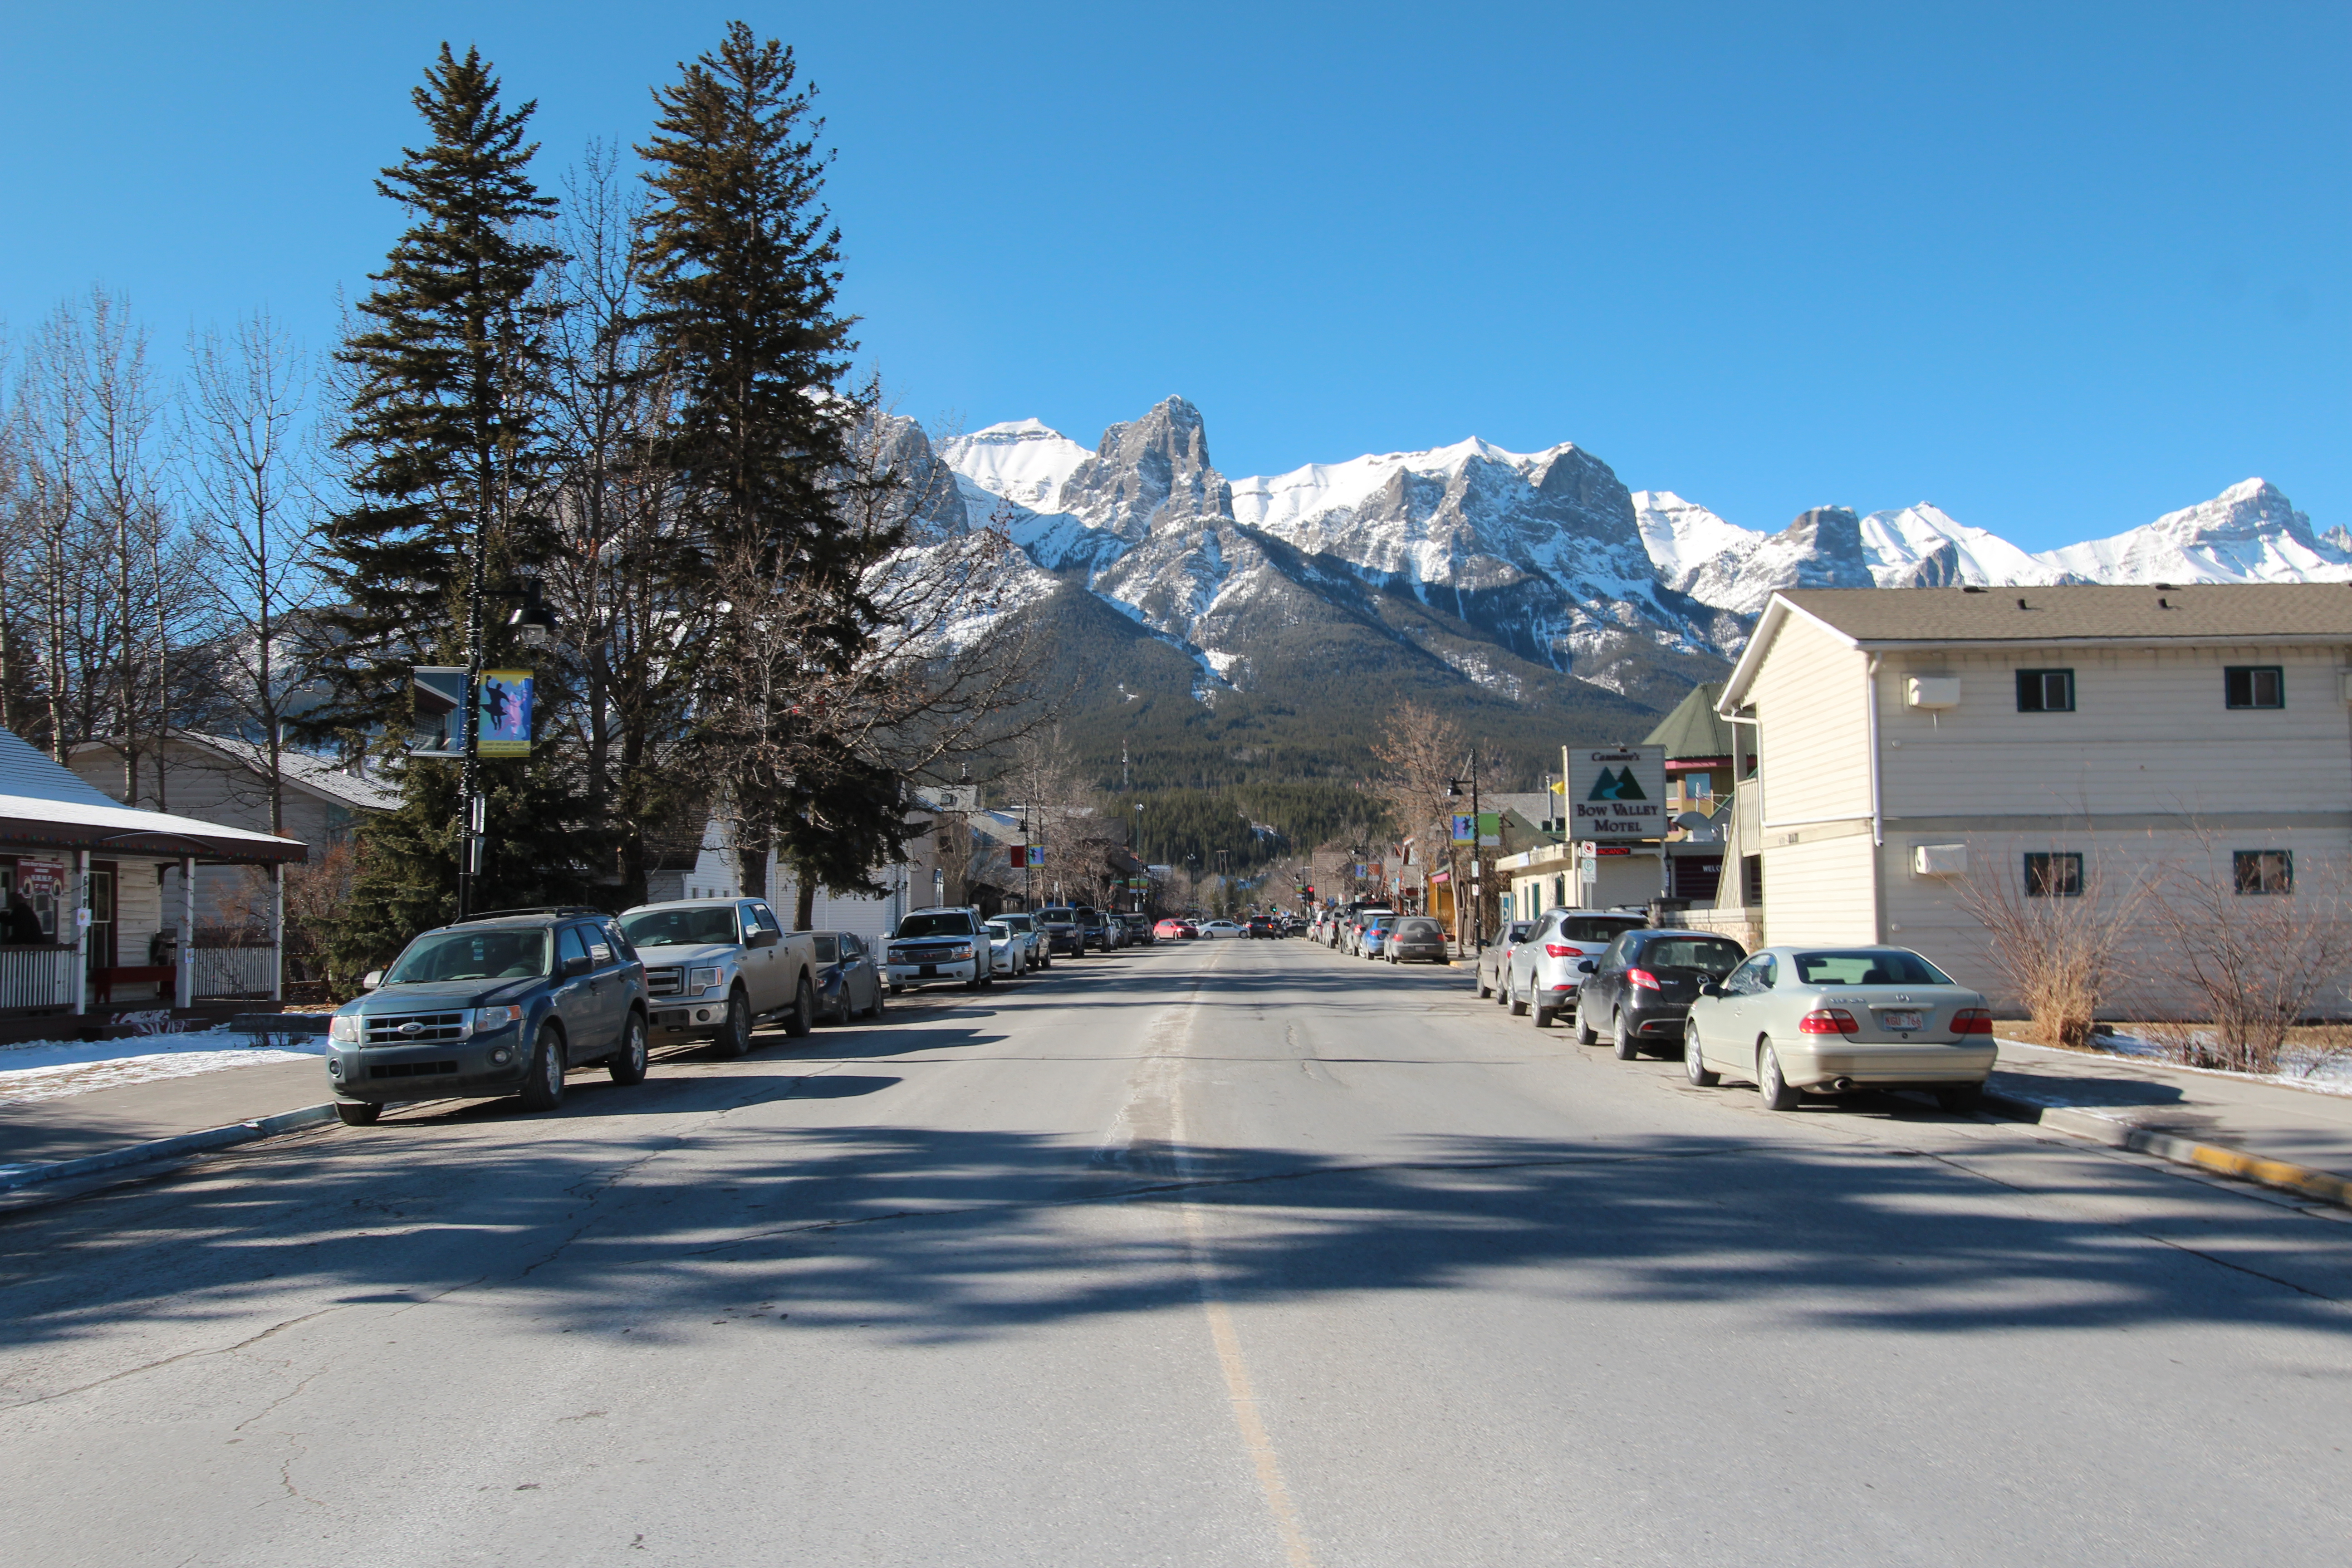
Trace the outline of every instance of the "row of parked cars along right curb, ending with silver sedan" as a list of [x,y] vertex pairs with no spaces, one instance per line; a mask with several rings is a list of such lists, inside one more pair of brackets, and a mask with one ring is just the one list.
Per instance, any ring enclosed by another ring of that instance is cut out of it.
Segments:
[[1806,1093],[1926,1088],[1973,1110],[1997,1056],[1985,997],[1907,947],[1773,945],[1653,926],[1623,910],[1545,910],[1479,947],[1479,997],[1576,1027],[1632,1060],[1682,1056],[1691,1084],[1757,1086],[1771,1110]]

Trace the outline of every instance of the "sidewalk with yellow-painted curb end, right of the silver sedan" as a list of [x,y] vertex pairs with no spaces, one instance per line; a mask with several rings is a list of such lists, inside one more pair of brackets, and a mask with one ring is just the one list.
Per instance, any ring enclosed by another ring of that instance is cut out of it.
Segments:
[[2352,1204],[2352,1095],[2004,1039],[1985,1098],[2065,1133]]

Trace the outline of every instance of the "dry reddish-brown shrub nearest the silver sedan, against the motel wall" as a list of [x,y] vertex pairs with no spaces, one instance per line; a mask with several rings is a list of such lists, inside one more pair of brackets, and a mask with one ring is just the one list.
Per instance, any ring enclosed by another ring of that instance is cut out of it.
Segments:
[[2110,889],[2098,858],[2084,853],[2082,891],[2042,898],[2009,875],[2011,865],[2020,858],[2004,856],[1999,872],[1966,877],[1959,907],[1985,926],[1992,966],[2032,1018],[2042,1044],[2082,1051],[2147,889],[2143,882]]

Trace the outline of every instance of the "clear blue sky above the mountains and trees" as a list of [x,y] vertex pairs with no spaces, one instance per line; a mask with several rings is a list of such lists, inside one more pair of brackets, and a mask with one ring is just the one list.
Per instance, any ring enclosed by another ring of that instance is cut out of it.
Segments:
[[325,346],[442,38],[546,183],[731,14],[840,148],[901,409],[1228,475],[1573,440],[1748,527],[1933,501],[2027,548],[2246,475],[2352,524],[2345,5],[14,5],[0,320]]

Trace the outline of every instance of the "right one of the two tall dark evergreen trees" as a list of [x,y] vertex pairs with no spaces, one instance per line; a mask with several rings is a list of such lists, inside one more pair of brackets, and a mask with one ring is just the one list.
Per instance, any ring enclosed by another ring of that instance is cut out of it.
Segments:
[[[847,529],[830,489],[851,468],[849,435],[866,409],[837,395],[856,343],[835,308],[840,230],[821,200],[823,122],[811,113],[814,89],[795,89],[795,71],[788,47],[731,21],[715,54],[680,66],[680,80],[656,92],[656,132],[637,148],[654,193],[642,320],[656,343],[649,371],[680,397],[668,461],[701,512],[708,550],[682,567],[790,585],[807,625],[793,654],[837,668],[861,651],[870,623],[863,574],[896,541]],[[708,656],[746,651],[720,642]],[[795,748],[783,733],[790,710],[762,722],[781,741],[762,755],[797,759],[736,776],[739,846],[755,860],[774,835],[797,872],[804,926],[816,884],[863,886],[875,856],[898,853],[898,780],[826,748]]]

